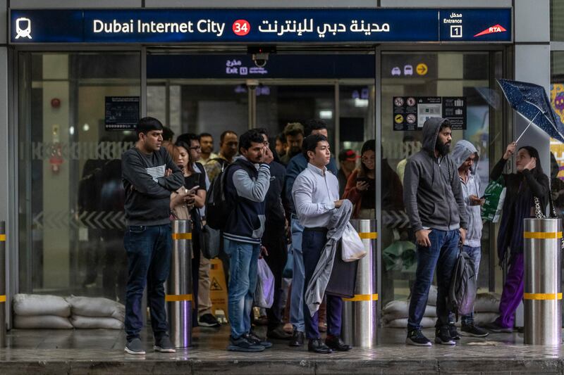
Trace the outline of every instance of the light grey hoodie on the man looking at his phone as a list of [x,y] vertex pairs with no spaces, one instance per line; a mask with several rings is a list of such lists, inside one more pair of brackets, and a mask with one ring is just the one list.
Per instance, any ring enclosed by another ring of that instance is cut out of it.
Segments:
[[482,208],[479,205],[470,205],[470,198],[468,197],[480,196],[480,177],[477,174],[479,155],[478,150],[469,141],[462,139],[462,141],[456,142],[453,151],[453,159],[457,169],[460,168],[473,153],[476,154],[476,159],[472,167],[470,167],[467,182],[462,181],[460,176],[459,178],[460,186],[462,186],[462,196],[464,196],[464,203],[466,205],[466,215],[468,216],[468,229],[466,231],[464,244],[472,248],[477,248],[480,246],[480,240],[482,239]]

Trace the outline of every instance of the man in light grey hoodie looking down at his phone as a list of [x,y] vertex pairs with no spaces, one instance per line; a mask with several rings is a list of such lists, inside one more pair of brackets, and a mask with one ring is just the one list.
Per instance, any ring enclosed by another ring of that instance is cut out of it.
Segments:
[[[456,142],[453,151],[453,159],[458,167],[458,177],[462,187],[462,196],[466,205],[468,216],[468,230],[463,243],[464,250],[474,261],[476,279],[480,269],[480,258],[482,258],[482,214],[480,207],[484,199],[480,199],[480,177],[477,174],[479,155],[477,149],[469,141]],[[474,314],[462,315],[462,336],[486,337],[488,331],[474,324]]]

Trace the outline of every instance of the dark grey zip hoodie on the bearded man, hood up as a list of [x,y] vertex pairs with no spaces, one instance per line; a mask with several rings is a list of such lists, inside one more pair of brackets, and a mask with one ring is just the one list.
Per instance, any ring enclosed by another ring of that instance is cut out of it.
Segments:
[[449,155],[436,158],[434,149],[443,118],[423,125],[423,148],[405,165],[403,201],[414,231],[467,229],[467,215],[458,168]]

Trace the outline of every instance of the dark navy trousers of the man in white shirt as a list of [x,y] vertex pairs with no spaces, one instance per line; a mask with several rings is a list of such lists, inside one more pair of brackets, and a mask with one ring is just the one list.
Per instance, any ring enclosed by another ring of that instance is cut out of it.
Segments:
[[[309,230],[305,229],[303,232],[303,256],[305,265],[305,285],[309,283],[312,279],[315,267],[317,267],[317,262],[321,256],[321,252],[325,248],[325,243],[327,242],[327,232],[319,230]],[[305,291],[304,291],[305,293]],[[327,307],[326,307],[326,318],[327,318],[327,334],[331,336],[340,337],[341,336],[341,313],[343,311],[343,300],[341,297],[336,295],[326,295]],[[305,298],[303,301],[303,311],[305,311],[304,322],[305,322],[305,333],[307,338],[315,339],[320,338],[319,334],[319,310],[313,314],[309,315],[309,308],[305,303]]]

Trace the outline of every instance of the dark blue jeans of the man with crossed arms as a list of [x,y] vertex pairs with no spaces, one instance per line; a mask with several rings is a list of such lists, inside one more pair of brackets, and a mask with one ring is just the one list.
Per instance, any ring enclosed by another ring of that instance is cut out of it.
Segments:
[[147,285],[151,326],[158,340],[168,335],[164,309],[164,283],[171,269],[171,224],[132,225],[125,230],[123,246],[128,253],[128,284],[125,288],[127,340],[139,337],[143,327],[142,299]]

